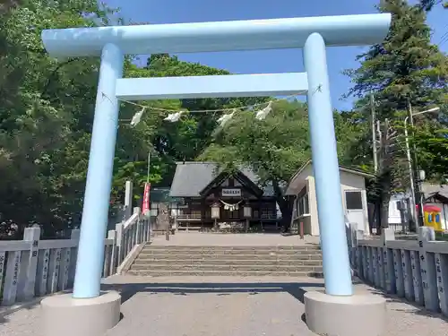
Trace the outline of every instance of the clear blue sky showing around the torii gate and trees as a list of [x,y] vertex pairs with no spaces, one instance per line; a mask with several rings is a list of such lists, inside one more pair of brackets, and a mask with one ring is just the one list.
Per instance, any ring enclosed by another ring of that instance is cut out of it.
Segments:
[[[374,6],[379,0],[105,0],[105,2],[111,7],[120,7],[121,15],[126,20],[157,24],[376,13]],[[439,43],[444,33],[448,31],[447,19],[448,9],[444,10],[440,5],[429,13],[428,24],[434,30],[434,43]],[[446,52],[448,41],[441,48]],[[328,49],[334,108],[349,109],[352,106],[351,99],[340,100],[341,95],[350,87],[349,78],[340,72],[346,68],[358,67],[355,57],[362,50],[362,47]],[[231,73],[303,71],[300,49],[183,54],[179,55],[179,58],[226,69]]]

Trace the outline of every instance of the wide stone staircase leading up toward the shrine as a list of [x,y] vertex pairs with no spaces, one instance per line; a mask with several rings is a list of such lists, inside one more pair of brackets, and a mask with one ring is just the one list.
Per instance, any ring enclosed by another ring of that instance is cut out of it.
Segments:
[[319,246],[151,246],[128,274],[322,277]]

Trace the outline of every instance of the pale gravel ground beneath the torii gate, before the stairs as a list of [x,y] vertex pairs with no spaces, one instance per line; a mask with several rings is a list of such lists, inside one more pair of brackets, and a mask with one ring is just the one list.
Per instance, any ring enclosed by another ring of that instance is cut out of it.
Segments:
[[[201,283],[198,283],[201,281]],[[294,278],[113,277],[105,289],[122,290],[123,320],[105,336],[312,336],[301,316],[305,290],[322,282]],[[357,291],[372,291],[357,285]],[[397,299],[388,302],[387,336],[448,336],[448,323]],[[39,333],[39,306],[0,320],[0,336]]]

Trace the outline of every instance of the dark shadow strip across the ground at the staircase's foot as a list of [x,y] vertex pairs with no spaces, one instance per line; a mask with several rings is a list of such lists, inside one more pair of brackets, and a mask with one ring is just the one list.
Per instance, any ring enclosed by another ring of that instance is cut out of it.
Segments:
[[323,289],[322,283],[313,282],[252,282],[252,283],[220,283],[220,282],[197,282],[197,283],[127,283],[127,284],[104,284],[104,290],[116,290],[121,293],[122,303],[125,303],[136,293],[171,293],[174,295],[187,296],[199,293],[211,293],[217,296],[228,296],[234,293],[247,293],[257,295],[262,293],[286,292],[304,302],[306,288]]

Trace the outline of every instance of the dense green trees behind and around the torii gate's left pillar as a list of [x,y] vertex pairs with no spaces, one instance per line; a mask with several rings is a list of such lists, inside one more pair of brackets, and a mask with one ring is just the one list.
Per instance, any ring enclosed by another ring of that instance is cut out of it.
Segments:
[[[37,222],[47,236],[54,236],[81,221],[99,58],[57,62],[47,56],[40,33],[48,28],[93,27],[124,20],[94,0],[21,0],[2,4],[0,11],[0,222],[17,223],[19,231]],[[125,60],[127,77],[208,74],[228,72],[168,55],[151,56],[146,67],[134,65],[134,57]],[[120,206],[126,179],[134,181],[135,194],[139,194],[146,180],[148,152],[151,182],[169,185],[175,162],[194,159],[211,141],[219,114],[186,115],[171,124],[163,121],[168,115],[164,109],[218,109],[252,101],[260,100],[136,102],[147,109],[135,127],[129,123],[141,107],[122,103],[111,216]]]

